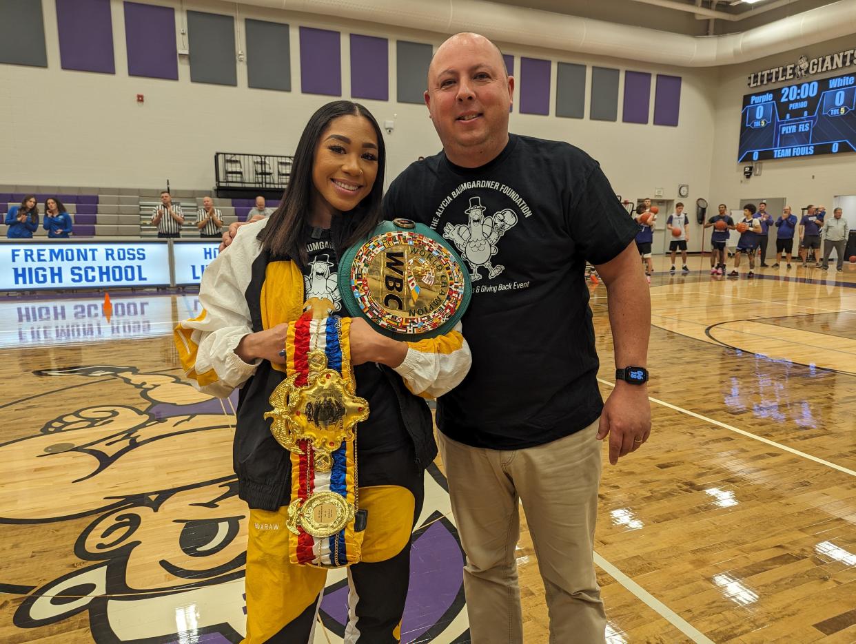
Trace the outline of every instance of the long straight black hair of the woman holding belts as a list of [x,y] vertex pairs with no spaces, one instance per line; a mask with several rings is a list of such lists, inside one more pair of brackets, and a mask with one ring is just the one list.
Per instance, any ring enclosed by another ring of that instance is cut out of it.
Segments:
[[[372,112],[351,101],[333,101],[318,109],[306,123],[294,162],[288,177],[288,188],[282,193],[282,201],[272,215],[267,226],[259,233],[262,247],[273,257],[289,257],[298,260],[306,267],[306,239],[310,226],[307,218],[312,212],[312,197],[315,186],[312,183],[312,164],[315,151],[324,130],[330,121],[339,116],[364,116],[372,124],[377,135],[377,177],[372,192],[360,204],[351,210],[347,217],[334,217],[331,224],[331,237],[336,249],[345,249],[349,245],[366,237],[382,219],[381,199],[383,198],[383,169],[386,165],[386,148],[383,134]],[[336,221],[341,219],[342,221]]]

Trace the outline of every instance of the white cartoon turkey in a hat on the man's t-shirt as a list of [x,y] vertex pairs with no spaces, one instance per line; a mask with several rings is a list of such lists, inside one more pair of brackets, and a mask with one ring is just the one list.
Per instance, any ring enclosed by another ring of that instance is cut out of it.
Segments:
[[495,266],[491,260],[496,255],[496,243],[517,223],[517,215],[510,208],[500,210],[492,216],[484,216],[486,211],[481,197],[471,197],[470,207],[464,210],[469,221],[457,226],[447,223],[443,227],[443,237],[455,242],[461,257],[470,265],[472,281],[482,279],[479,274],[481,268],[487,271],[490,280],[505,270],[502,264]]

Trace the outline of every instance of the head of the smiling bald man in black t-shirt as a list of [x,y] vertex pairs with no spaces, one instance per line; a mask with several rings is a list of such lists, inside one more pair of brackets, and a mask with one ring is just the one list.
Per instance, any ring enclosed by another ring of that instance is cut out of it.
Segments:
[[[486,38],[459,34],[441,45],[428,70],[425,104],[447,152],[478,154],[505,145],[514,79]],[[485,160],[486,161],[486,160]]]

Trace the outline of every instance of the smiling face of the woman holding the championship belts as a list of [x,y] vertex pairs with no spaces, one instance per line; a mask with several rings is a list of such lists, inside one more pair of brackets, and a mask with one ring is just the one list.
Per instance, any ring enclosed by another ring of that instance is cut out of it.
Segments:
[[338,116],[321,134],[312,162],[315,205],[330,213],[354,210],[377,178],[377,135],[365,116]]

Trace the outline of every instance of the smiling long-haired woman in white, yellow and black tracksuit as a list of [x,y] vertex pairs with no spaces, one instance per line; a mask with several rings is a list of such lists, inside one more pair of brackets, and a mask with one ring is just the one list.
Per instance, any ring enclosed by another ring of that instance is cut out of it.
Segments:
[[[224,397],[241,387],[233,460],[239,495],[251,510],[247,642],[305,642],[315,622],[326,570],[291,563],[289,540],[305,535],[294,537],[285,525],[303,465],[294,468],[299,457],[276,442],[265,412],[271,393],[297,367],[294,338],[305,328],[306,294],[339,309],[336,279],[326,279],[324,290],[316,278],[335,278],[342,251],[380,222],[384,160],[383,136],[366,108],[336,101],[318,109],[300,137],[281,205],[267,219],[242,227],[208,265],[199,290],[202,315],[175,329],[181,362],[200,390]],[[345,640],[383,644],[400,641],[410,536],[422,507],[424,470],[437,454],[431,413],[411,392],[436,397],[449,391],[466,375],[470,354],[460,326],[408,344],[377,334],[361,318],[342,320],[342,328],[346,322],[356,395],[367,400],[370,413],[355,441],[354,535],[361,538],[361,560],[348,567]],[[328,333],[324,342],[330,340]],[[345,334],[341,340],[344,362]],[[318,557],[313,564],[330,556],[324,540],[309,541],[309,556]]]

